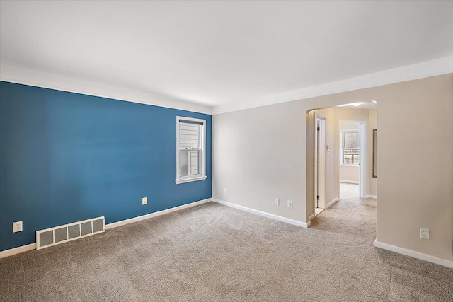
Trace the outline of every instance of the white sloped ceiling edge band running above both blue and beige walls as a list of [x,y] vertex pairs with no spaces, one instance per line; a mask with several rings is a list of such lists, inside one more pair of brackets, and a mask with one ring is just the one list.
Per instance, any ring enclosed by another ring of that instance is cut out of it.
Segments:
[[[55,74],[46,74],[40,71],[23,69],[17,66],[4,64],[3,62],[1,63],[0,69],[0,81],[50,88],[59,91],[69,91],[103,98],[112,98],[115,100],[124,100],[133,103],[155,105],[165,108],[188,110],[191,112],[200,112],[209,115],[217,115],[226,112],[256,108],[264,105],[285,103],[292,100],[314,98],[321,95],[354,91],[362,88],[382,86],[391,83],[423,79],[430,76],[439,76],[450,73],[453,73],[453,56],[398,67],[396,69],[379,71],[374,74],[357,76],[355,78],[326,83],[319,86],[268,95],[245,103],[219,105],[214,108],[207,105],[190,103],[185,100],[171,98],[166,95],[159,95],[157,93],[135,91],[117,86],[109,86],[81,79],[72,79]],[[351,101],[355,102],[361,100]]]

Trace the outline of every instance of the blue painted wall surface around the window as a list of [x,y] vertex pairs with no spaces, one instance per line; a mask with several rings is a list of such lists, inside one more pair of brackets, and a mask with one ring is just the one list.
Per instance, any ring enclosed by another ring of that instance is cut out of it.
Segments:
[[[207,180],[176,185],[177,115],[207,122]],[[0,82],[0,250],[43,228],[212,197],[211,125],[211,115]]]

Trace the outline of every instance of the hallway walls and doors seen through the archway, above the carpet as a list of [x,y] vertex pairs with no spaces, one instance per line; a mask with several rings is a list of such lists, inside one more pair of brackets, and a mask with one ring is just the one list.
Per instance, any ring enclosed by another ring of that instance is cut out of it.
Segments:
[[[360,107],[360,108],[357,108]],[[355,133],[343,135],[340,122],[355,124]],[[319,127],[319,131],[318,131]],[[377,146],[377,102],[360,102],[306,112],[306,220],[326,215],[340,200],[341,185],[351,185],[355,201],[377,198],[374,162]],[[352,144],[355,139],[358,144]],[[358,151],[357,151],[358,149]],[[353,181],[340,175],[341,163],[355,165],[358,178]],[[358,167],[358,168],[357,168]],[[339,207],[339,206],[336,206]]]

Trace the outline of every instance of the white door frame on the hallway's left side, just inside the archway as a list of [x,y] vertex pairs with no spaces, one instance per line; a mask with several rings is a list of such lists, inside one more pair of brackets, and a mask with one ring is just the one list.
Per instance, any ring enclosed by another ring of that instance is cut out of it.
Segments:
[[[318,165],[317,165],[317,161],[318,161],[318,152],[316,152],[316,149],[317,149],[317,146],[318,146],[318,141],[317,141],[317,129],[316,129],[316,120],[319,120],[320,121],[320,124],[321,124],[321,129],[320,129],[320,137],[321,137],[321,141],[320,141],[320,144],[319,144],[319,148],[320,148],[320,157],[321,157],[321,177],[320,177],[320,180],[321,180],[321,185],[320,186],[316,186],[317,185],[317,182],[318,182]],[[317,202],[318,204],[318,208],[321,208],[321,209],[324,209],[326,207],[326,116],[325,115],[321,115],[317,112],[315,112],[314,114],[314,132],[315,132],[315,135],[314,135],[314,149],[315,149],[315,152],[314,152],[314,177],[315,177],[315,194],[314,194],[314,204],[315,204],[315,208],[316,208],[316,197],[317,195],[319,194],[319,202]],[[321,187],[321,189],[319,190],[320,192],[318,192],[318,187]]]

